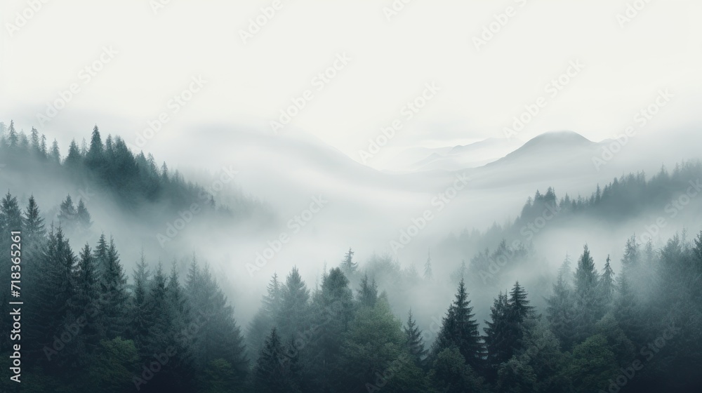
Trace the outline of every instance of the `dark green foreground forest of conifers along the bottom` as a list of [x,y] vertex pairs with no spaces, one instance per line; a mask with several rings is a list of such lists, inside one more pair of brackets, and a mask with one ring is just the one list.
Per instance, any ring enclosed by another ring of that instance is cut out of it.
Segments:
[[[37,138],[29,138],[29,148]],[[16,147],[23,143],[18,133]],[[104,147],[102,154],[115,154],[119,143]],[[599,204],[607,197],[602,192]],[[622,393],[687,392],[702,383],[702,232],[691,241],[675,236],[660,250],[630,239],[616,276],[609,258],[597,263],[585,248],[575,275],[569,262],[558,272],[544,320],[517,282],[494,301],[484,342],[475,313],[486,309],[477,302],[473,312],[461,281],[427,358],[419,327],[427,319],[410,314],[403,328],[383,281],[357,277],[355,297],[335,268],[310,294],[294,268],[267,288],[249,333],[267,330],[249,368],[234,308],[208,265],[193,261],[183,286],[175,265],[150,274],[143,255],[128,285],[112,239],[102,235],[94,250],[86,244],[75,255],[64,227],[46,233],[33,197],[24,212],[11,194],[2,199],[0,229],[13,228],[22,229],[22,273],[27,269],[22,391],[128,392],[138,385],[140,392],[189,393],[598,392],[609,391],[635,361],[643,371],[628,377]],[[407,277],[396,274],[390,258],[373,263],[371,277]],[[7,314],[6,293],[2,300]],[[59,337],[69,340],[57,344]],[[140,382],[145,367],[166,353],[168,361]],[[0,389],[13,385],[3,381]]]

